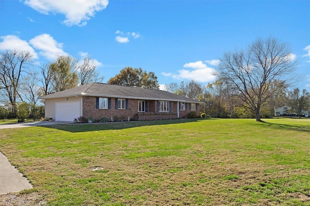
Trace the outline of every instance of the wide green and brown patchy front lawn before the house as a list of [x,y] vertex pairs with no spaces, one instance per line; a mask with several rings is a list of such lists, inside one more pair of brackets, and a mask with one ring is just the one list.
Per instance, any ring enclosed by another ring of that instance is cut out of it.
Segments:
[[310,205],[310,119],[178,119],[0,130],[50,206]]

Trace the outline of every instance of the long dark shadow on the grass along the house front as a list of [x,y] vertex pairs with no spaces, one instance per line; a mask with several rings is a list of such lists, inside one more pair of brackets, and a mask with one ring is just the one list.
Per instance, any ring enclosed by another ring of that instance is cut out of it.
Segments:
[[197,122],[209,118],[192,118],[192,119],[169,119],[169,120],[148,120],[148,121],[123,121],[123,122],[105,122],[105,123],[86,123],[86,124],[54,124],[45,125],[42,127],[53,128],[66,132],[91,132],[103,130],[122,130],[127,128],[167,125],[167,124],[182,124],[186,122]]

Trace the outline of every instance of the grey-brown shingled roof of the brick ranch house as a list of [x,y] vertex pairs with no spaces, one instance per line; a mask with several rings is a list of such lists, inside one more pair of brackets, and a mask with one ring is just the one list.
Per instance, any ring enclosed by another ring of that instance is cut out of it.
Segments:
[[56,93],[42,96],[39,99],[52,99],[73,96],[95,96],[95,97],[114,97],[140,100],[161,100],[177,101],[186,103],[200,103],[184,96],[170,93],[168,91],[147,89],[140,87],[127,87],[121,85],[111,85],[104,83],[91,83],[76,88],[59,91]]

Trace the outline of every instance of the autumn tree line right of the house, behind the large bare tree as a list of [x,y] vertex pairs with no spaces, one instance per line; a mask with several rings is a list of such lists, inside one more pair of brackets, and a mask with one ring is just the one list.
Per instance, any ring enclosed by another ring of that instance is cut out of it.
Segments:
[[[301,117],[303,111],[310,111],[310,92],[299,88],[289,89],[288,85],[278,79],[269,86],[272,94],[261,104],[260,118],[275,116],[275,109],[288,106],[290,113]],[[279,88],[274,91],[274,88]],[[256,118],[255,109],[244,101],[242,94],[235,90],[229,82],[217,79],[203,86],[191,80],[187,83],[170,83],[165,85],[169,92],[201,101],[200,112],[207,117],[216,118]],[[270,92],[271,92],[270,91]]]

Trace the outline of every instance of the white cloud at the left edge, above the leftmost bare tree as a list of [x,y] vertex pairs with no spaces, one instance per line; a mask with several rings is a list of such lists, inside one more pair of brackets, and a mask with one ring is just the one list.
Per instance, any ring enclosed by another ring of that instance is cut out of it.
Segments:
[[31,53],[34,59],[38,58],[38,54],[28,44],[28,42],[19,39],[19,37],[15,35],[7,35],[1,36],[0,38],[3,39],[3,41],[0,42],[0,50],[26,50]]

